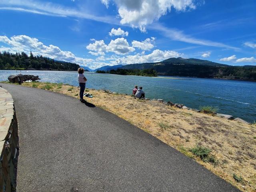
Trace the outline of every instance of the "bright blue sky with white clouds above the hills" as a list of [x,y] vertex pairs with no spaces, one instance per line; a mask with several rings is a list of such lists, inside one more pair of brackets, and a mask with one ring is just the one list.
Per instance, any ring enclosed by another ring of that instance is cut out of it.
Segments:
[[198,58],[256,65],[255,0],[0,0],[0,52],[96,69]]

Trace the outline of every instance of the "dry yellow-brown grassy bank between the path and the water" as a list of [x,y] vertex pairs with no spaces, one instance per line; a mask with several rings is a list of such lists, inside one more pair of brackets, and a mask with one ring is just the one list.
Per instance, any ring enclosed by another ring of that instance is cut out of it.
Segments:
[[[52,83],[24,83],[79,98],[79,88]],[[134,99],[105,90],[89,90],[88,102],[112,112],[193,158],[242,191],[256,190],[256,125]],[[79,100],[78,100],[79,102]],[[136,110],[137,108],[140,110]],[[139,123],[138,123],[139,122]]]

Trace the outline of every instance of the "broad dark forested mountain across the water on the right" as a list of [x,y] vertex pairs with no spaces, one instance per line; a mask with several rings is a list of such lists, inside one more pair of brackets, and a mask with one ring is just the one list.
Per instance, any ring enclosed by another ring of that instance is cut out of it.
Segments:
[[256,66],[230,66],[200,59],[169,58],[162,62],[128,64],[122,69],[154,69],[158,75],[256,81]]

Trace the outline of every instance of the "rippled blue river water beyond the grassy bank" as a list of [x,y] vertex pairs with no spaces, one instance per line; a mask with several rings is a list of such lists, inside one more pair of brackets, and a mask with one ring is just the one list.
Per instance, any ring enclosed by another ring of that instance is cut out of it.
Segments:
[[[0,80],[7,80],[10,74],[18,72],[2,70]],[[22,74],[38,75],[42,82],[62,82],[78,86],[77,72],[22,71]],[[183,77],[168,79],[92,72],[86,72],[85,76],[88,88],[105,88],[131,94],[134,85],[138,85],[143,87],[147,98],[161,98],[197,109],[206,105],[216,106],[220,113],[250,122],[256,121],[256,82]]]

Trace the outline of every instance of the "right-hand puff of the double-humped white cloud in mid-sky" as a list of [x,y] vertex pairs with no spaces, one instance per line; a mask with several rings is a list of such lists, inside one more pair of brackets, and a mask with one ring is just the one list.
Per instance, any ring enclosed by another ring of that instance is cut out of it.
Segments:
[[133,52],[134,50],[135,49],[130,47],[127,40],[123,37],[111,40],[107,48],[108,52],[114,52],[116,54],[127,54],[129,52]]

